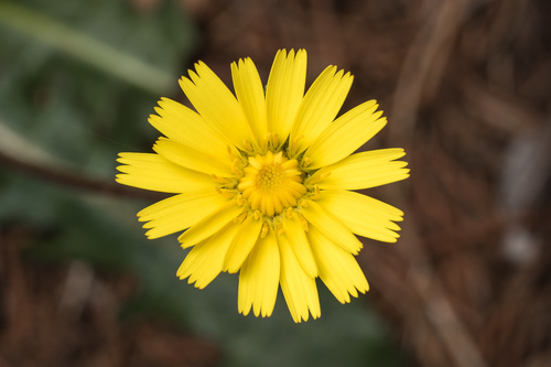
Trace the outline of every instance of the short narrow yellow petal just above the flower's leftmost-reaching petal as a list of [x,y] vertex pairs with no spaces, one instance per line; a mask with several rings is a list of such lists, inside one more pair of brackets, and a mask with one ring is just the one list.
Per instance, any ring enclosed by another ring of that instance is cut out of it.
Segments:
[[190,170],[223,177],[231,175],[231,163],[227,154],[222,159],[215,158],[165,138],[160,138],[153,145],[153,150],[172,163]]

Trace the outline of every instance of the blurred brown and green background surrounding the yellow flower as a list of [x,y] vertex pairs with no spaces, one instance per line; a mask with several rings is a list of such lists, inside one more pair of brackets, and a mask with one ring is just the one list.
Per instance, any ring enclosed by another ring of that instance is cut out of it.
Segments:
[[[551,2],[0,0],[0,366],[551,366]],[[237,277],[179,281],[147,240],[154,193],[114,182],[151,151],[156,100],[202,60],[230,85],[278,48],[355,82],[411,177],[366,194],[406,213],[365,240],[371,290],[322,319],[237,312]]]

